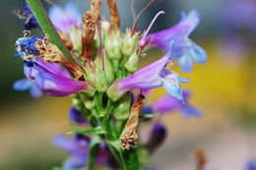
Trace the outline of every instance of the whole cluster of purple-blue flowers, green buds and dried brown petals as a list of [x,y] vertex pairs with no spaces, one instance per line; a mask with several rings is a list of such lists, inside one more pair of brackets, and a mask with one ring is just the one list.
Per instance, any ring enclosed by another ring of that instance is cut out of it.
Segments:
[[[189,104],[189,92],[181,89],[180,83],[189,80],[168,70],[171,60],[184,72],[192,70],[193,62],[206,62],[204,49],[189,38],[199,24],[198,12],[182,13],[176,26],[160,32],[149,34],[152,23],[140,33],[136,29],[137,21],[133,28],[123,32],[119,28],[115,0],[106,2],[109,22],[100,20],[100,0],[92,0],[91,10],[83,17],[74,3],[64,8],[54,6],[49,10],[49,19],[56,36],[47,30],[44,37],[26,33],[15,44],[15,57],[24,61],[27,78],[16,82],[15,89],[30,89],[34,97],[42,93],[72,94],[70,119],[76,128],[70,134],[75,134],[74,139],[59,136],[53,140],[70,153],[63,165],[65,170],[85,166],[90,169],[95,163],[113,169],[143,169],[147,157],[160,146],[167,133],[158,119],[148,142],[141,143],[137,134],[141,124],[152,123],[155,117],[173,111],[181,111],[186,118],[201,116],[201,112]],[[30,9],[25,4],[25,8],[29,16],[26,29],[45,24],[32,14],[37,6]],[[160,14],[162,12],[157,17]],[[56,39],[58,43],[54,43]],[[59,44],[64,45],[72,58]],[[140,60],[147,57],[151,47],[159,47],[165,55],[140,69]],[[143,95],[143,91],[160,86],[167,94],[153,104],[146,102],[149,92]]]

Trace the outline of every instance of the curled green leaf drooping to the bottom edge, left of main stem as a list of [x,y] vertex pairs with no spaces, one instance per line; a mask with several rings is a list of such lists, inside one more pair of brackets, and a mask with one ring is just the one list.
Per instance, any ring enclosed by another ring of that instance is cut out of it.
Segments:
[[91,170],[96,164],[96,158],[98,155],[98,146],[100,142],[101,140],[99,139],[98,136],[95,136],[90,142],[87,170]]

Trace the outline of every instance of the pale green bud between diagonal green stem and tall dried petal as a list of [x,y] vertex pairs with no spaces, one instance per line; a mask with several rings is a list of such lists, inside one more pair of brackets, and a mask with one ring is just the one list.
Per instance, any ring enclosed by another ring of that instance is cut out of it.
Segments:
[[72,26],[69,29],[69,33],[70,33],[70,40],[73,43],[73,49],[75,50],[75,52],[80,55],[82,52],[82,36],[81,36],[81,29],[76,27],[76,26]]

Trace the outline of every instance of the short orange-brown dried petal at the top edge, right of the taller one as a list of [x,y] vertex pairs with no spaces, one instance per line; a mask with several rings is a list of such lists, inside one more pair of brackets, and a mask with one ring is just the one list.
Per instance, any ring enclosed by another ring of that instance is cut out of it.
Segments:
[[106,3],[110,11],[110,29],[119,28],[120,26],[120,16],[118,9],[116,7],[115,0],[106,0]]

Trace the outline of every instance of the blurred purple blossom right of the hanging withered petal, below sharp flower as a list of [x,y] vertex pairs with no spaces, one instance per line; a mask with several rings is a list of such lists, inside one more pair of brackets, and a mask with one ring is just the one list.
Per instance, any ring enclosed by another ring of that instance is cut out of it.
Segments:
[[202,116],[202,112],[189,103],[189,91],[185,90],[183,92],[183,98],[185,103],[180,102],[179,100],[170,95],[165,95],[156,102],[154,102],[151,106],[144,106],[143,112],[148,114],[166,114],[174,111],[181,111],[185,118]]

